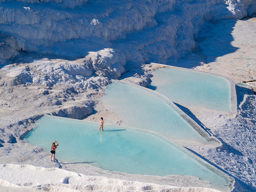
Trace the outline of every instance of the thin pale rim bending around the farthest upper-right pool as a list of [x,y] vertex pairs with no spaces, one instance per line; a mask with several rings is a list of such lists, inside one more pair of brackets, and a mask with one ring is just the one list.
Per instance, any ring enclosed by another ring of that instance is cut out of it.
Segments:
[[194,69],[188,69],[188,68],[182,68],[182,67],[176,67],[176,66],[168,66],[168,65],[161,64],[161,63],[155,63],[155,62],[151,62],[150,64],[145,63],[145,65],[152,65],[153,67],[155,66],[156,68],[153,68],[153,70],[160,69],[160,68],[176,68],[176,69],[181,69],[181,70],[204,73],[204,74],[208,74],[208,75],[215,75],[215,76],[219,76],[219,77],[222,77],[222,78],[228,80],[228,82],[230,84],[230,91],[231,91],[231,94],[230,94],[230,96],[231,96],[231,113],[234,114],[234,115],[237,114],[236,83],[234,83],[234,81],[231,78],[223,76],[223,75],[218,75],[218,74],[215,74],[215,73],[198,71],[198,70],[194,70]]

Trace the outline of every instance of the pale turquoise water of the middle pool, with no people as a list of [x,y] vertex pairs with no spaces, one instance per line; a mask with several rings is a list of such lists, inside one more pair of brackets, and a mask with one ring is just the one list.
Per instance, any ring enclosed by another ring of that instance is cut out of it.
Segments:
[[[207,142],[166,99],[140,86],[115,81],[101,98],[127,126],[151,130],[175,140]],[[177,107],[176,107],[177,108]]]

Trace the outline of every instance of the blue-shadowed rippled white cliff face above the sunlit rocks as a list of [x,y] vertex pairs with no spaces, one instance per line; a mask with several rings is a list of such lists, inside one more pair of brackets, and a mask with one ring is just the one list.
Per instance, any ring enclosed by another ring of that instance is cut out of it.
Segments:
[[165,63],[195,47],[194,35],[205,21],[255,12],[253,0],[2,0],[0,62],[22,51],[84,57],[111,48],[117,66],[129,60]]

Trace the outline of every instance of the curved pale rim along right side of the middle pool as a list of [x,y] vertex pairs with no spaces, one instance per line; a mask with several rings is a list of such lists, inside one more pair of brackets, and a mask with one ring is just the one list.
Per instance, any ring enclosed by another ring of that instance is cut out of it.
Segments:
[[174,104],[166,96],[164,96],[164,95],[162,95],[162,94],[160,94],[160,93],[158,93],[156,91],[153,91],[151,89],[144,88],[142,86],[137,86],[136,84],[133,84],[133,83],[130,83],[130,82],[126,82],[126,81],[122,81],[122,80],[112,80],[112,82],[113,83],[117,82],[117,83],[127,84],[129,86],[133,86],[133,87],[136,87],[136,88],[139,88],[139,89],[143,89],[143,90],[145,90],[147,92],[150,92],[151,94],[156,95],[161,100],[166,102],[166,104],[168,104],[170,106],[170,108],[172,108],[176,113],[178,113],[178,115],[180,115],[191,127],[193,127],[193,129],[196,132],[198,132],[206,141],[214,142],[214,144],[211,143],[214,147],[222,147],[222,143],[221,143],[221,141],[219,139],[217,139],[216,137],[214,137],[214,136],[210,135],[209,133],[207,133],[198,123],[196,123],[196,121],[191,119],[187,114],[185,114],[180,108],[178,108],[178,106],[176,104]]

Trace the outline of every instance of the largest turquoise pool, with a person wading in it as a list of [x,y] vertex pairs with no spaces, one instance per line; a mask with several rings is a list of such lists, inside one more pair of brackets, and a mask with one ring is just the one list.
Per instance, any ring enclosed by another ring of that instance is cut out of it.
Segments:
[[140,175],[190,175],[210,181],[212,188],[230,191],[230,178],[220,170],[158,134],[99,123],[44,116],[25,140],[51,150],[57,140],[56,158],[84,162],[106,170]]

